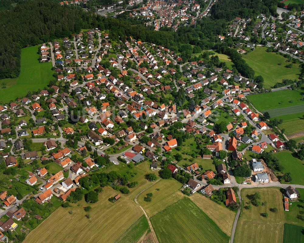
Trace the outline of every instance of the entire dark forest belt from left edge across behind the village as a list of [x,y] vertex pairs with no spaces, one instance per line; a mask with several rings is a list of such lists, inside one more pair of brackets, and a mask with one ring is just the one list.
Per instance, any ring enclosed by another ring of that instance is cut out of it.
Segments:
[[[27,1],[14,9],[1,12],[0,79],[15,78],[19,75],[21,48],[71,36],[72,33],[79,33],[81,29],[88,28],[107,29],[113,40],[132,36],[135,39],[162,45],[180,52],[184,61],[188,61],[192,51],[198,53],[200,50],[210,50],[219,44],[218,35],[226,33],[228,20],[236,16],[251,16],[262,10],[271,12],[273,7],[268,10],[268,4],[274,4],[274,1],[244,0],[240,3],[235,0],[219,0],[212,8],[214,17],[199,19],[195,28],[182,26],[177,32],[171,28],[154,31],[153,27],[145,27],[140,20],[128,19],[128,13],[117,18],[103,18],[92,12],[85,12],[80,6],[60,6],[59,2],[53,0]],[[223,5],[225,11],[219,9]],[[276,4],[274,5],[276,8]],[[232,46],[231,38],[227,38],[226,47]],[[240,55],[226,47],[221,50],[222,53],[232,58],[238,71],[252,77],[253,70],[250,70]]]

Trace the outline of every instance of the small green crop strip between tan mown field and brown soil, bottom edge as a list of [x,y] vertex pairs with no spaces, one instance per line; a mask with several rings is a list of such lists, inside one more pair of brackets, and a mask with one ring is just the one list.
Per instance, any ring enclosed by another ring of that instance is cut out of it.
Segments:
[[149,229],[146,216],[141,216],[114,243],[136,243]]

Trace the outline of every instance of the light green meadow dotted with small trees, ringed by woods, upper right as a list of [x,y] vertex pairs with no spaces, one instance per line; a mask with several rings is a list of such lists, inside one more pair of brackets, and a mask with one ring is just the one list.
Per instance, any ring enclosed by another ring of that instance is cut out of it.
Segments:
[[254,51],[243,55],[247,64],[255,71],[255,75],[264,78],[264,87],[269,89],[282,79],[298,78],[299,64],[292,64],[292,68],[285,68],[286,58],[273,52],[266,52],[266,47],[256,47]]

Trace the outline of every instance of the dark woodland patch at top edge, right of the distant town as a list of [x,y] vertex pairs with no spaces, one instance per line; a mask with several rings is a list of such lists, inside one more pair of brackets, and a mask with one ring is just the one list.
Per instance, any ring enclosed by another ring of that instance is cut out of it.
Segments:
[[253,18],[260,13],[277,15],[277,0],[218,0],[211,9],[216,19],[233,20],[236,16]]

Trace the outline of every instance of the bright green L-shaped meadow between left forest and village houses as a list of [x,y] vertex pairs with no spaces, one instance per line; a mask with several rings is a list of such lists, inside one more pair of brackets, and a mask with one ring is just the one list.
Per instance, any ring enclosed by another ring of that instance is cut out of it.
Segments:
[[52,62],[40,63],[38,48],[33,46],[21,50],[20,75],[0,80],[0,84],[6,83],[5,89],[0,88],[0,101],[8,102],[25,96],[28,91],[43,89],[54,79]]

